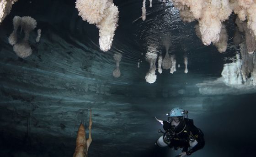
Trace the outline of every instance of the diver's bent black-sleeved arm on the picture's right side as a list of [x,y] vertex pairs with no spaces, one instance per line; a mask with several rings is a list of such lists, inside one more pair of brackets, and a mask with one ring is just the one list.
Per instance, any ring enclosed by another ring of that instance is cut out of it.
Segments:
[[193,137],[195,137],[195,140],[197,140],[197,145],[192,147],[189,151],[187,151],[187,155],[191,155],[193,152],[196,152],[199,149],[202,149],[205,145],[204,138],[203,138],[203,132],[197,129],[194,125],[191,128],[191,132]]

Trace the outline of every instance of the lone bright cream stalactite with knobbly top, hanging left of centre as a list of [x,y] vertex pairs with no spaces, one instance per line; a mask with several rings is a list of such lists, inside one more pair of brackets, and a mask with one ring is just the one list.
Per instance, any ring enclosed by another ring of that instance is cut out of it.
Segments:
[[119,14],[113,0],[76,0],[75,7],[83,20],[99,28],[100,49],[110,50]]

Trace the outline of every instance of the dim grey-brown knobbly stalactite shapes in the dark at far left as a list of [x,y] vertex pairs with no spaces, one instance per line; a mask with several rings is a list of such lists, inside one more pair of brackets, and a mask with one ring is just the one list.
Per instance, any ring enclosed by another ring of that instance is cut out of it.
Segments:
[[[17,56],[21,58],[26,58],[32,54],[32,49],[29,45],[29,34],[32,30],[37,27],[37,21],[30,16],[15,16],[13,18],[13,27],[11,35],[8,38],[9,44],[13,46],[13,51]],[[18,41],[18,28],[21,27],[21,30],[24,31],[24,38],[21,41]],[[37,30],[37,39],[38,42],[41,36],[41,30]]]

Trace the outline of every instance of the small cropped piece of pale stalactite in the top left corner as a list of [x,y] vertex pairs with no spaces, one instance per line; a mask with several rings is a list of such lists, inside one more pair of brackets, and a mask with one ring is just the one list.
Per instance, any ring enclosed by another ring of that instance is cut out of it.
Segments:
[[0,24],[10,14],[12,5],[18,0],[0,0]]

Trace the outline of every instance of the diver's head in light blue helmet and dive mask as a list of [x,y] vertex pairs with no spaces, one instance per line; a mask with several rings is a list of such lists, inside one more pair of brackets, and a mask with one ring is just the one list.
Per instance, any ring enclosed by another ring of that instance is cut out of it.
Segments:
[[186,110],[183,110],[180,107],[175,107],[171,109],[170,114],[168,114],[168,122],[170,122],[172,126],[177,127],[180,123],[183,122],[186,114]]

